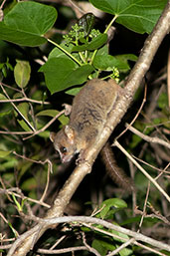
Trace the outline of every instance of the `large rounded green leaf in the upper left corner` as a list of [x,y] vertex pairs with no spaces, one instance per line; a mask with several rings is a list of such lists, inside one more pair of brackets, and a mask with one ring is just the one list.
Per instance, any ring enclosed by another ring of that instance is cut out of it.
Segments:
[[0,39],[22,46],[39,46],[47,42],[43,35],[56,19],[57,11],[52,6],[19,2],[0,22]]

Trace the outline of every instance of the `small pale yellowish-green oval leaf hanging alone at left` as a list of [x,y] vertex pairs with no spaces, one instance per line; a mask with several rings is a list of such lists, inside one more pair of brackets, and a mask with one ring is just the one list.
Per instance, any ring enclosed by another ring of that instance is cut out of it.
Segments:
[[14,78],[20,88],[25,88],[30,80],[31,67],[29,62],[16,60],[14,68]]

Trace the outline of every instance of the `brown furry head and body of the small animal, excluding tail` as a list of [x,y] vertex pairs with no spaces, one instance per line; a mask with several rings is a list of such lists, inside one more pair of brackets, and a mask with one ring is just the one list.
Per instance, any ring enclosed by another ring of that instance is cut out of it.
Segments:
[[115,103],[117,91],[118,86],[113,80],[92,79],[75,97],[69,125],[56,136],[51,135],[63,162],[70,161],[75,153],[96,141]]

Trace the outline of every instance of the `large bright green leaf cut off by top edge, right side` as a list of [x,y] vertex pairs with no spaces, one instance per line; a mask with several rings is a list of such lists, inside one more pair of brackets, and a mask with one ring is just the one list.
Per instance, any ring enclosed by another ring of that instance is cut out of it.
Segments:
[[167,0],[89,0],[103,12],[116,15],[116,22],[137,33],[150,33]]

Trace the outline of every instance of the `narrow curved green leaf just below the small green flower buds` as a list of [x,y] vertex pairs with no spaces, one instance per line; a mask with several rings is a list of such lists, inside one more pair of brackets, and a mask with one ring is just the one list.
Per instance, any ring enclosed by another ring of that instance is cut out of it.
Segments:
[[73,47],[72,51],[73,52],[83,52],[83,51],[93,51],[101,46],[103,46],[107,41],[107,35],[106,34],[100,34],[96,36],[92,41],[89,43],[86,43],[85,45],[82,46],[75,46]]

